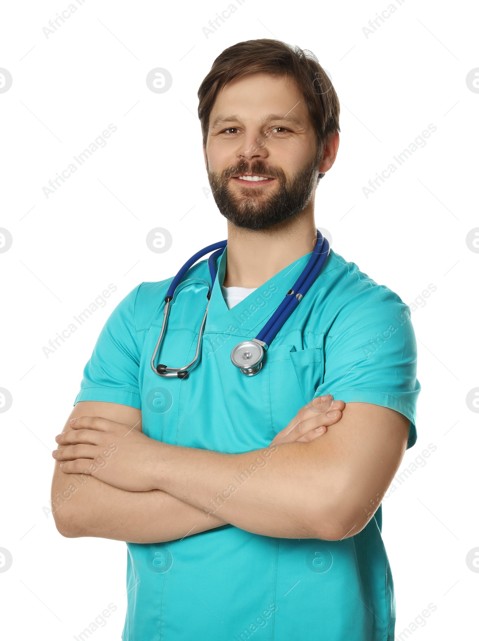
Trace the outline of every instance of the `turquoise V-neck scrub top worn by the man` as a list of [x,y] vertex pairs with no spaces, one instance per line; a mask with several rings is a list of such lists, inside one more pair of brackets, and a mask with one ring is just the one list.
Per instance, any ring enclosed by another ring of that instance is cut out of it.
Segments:
[[[240,453],[266,447],[314,395],[330,393],[405,415],[410,447],[421,387],[409,308],[334,251],[259,374],[244,376],[231,363],[231,349],[256,336],[310,255],[228,310],[225,252],[201,361],[184,380],[160,378],[150,367],[171,279],[140,283],[106,321],[75,403],[130,405],[142,410],[151,438]],[[158,362],[182,367],[192,360],[209,279],[203,261],[177,288]],[[221,508],[216,514],[221,518]],[[379,508],[360,533],[339,541],[265,537],[226,525],[181,540],[128,543],[122,639],[392,641],[394,590],[381,526]]]

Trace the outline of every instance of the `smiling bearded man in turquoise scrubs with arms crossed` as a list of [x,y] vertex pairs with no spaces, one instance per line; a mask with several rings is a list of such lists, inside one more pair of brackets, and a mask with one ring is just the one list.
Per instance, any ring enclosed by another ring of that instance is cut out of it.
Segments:
[[[171,279],[121,301],[56,437],[57,528],[128,542],[124,641],[392,640],[380,502],[416,441],[408,307],[331,250],[262,370],[230,360],[310,258],[339,101],[276,40],[226,49],[198,96],[228,219],[201,359],[185,379],[150,367]],[[205,261],[183,278],[156,362],[192,360],[209,278]]]

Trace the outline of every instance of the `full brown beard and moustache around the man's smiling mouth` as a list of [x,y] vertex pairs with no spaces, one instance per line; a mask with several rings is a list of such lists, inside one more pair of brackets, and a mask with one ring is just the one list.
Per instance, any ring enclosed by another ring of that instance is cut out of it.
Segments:
[[[219,173],[208,169],[208,179],[215,203],[223,216],[237,227],[258,231],[287,221],[303,211],[317,187],[319,160],[317,154],[291,178],[287,178],[282,169],[258,159],[251,164],[242,160]],[[231,176],[248,172],[276,178],[279,188],[271,196],[252,194],[248,187],[240,196],[233,195],[228,188],[228,180]]]

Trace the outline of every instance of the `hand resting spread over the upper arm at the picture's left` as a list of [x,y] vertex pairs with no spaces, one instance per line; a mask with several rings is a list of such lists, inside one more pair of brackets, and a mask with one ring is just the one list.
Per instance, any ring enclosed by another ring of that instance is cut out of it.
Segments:
[[156,489],[161,442],[97,416],[72,419],[70,426],[55,438],[60,448],[53,451],[53,458],[62,462],[62,472],[90,474],[130,492]]

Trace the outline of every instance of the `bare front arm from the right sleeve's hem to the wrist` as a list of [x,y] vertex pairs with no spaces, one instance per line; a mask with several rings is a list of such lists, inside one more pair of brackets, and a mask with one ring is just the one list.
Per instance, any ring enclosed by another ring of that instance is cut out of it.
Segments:
[[154,487],[250,532],[340,540],[361,531],[407,446],[409,420],[369,403],[308,443],[221,454],[157,444]]

